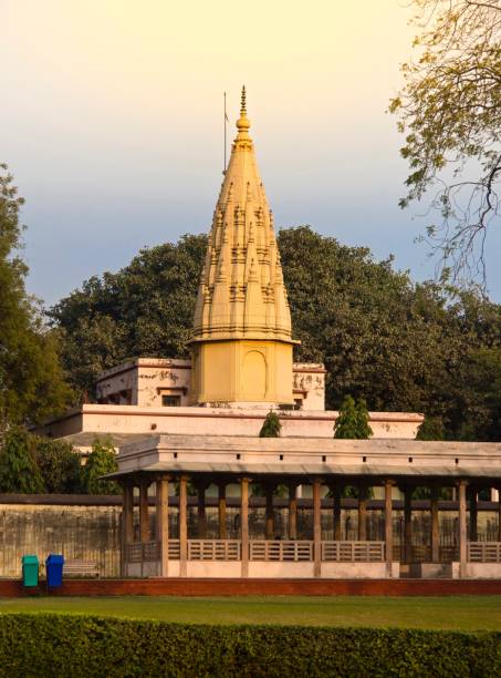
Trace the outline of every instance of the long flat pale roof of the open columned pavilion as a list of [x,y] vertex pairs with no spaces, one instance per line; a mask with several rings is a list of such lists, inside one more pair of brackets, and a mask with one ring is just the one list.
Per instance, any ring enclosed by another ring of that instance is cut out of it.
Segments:
[[419,484],[501,480],[501,444],[409,440],[157,435],[121,448],[118,472],[215,476],[336,476]]

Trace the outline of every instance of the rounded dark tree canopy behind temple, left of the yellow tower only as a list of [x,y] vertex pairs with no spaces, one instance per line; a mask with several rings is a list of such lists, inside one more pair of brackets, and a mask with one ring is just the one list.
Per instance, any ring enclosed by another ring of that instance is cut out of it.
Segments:
[[50,311],[72,384],[91,398],[97,374],[135,357],[186,357],[207,237],[143,249],[116,274],[83,284]]

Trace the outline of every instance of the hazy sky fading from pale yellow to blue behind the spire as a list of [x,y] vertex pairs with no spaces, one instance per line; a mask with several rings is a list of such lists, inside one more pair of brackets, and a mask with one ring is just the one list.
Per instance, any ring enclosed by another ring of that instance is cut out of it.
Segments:
[[[242,83],[276,225],[432,276],[414,243],[424,206],[397,206],[406,165],[385,112],[410,16],[403,0],[0,0],[0,161],[27,198],[30,291],[53,304],[144,246],[207,230],[222,93],[231,141]],[[500,299],[501,270],[489,275]]]

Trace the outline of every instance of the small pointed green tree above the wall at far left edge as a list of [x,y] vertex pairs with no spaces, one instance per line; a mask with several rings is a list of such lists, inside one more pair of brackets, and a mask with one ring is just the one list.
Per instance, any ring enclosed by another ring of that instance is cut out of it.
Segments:
[[33,494],[44,491],[32,448],[33,441],[24,429],[9,429],[0,451],[0,492]]

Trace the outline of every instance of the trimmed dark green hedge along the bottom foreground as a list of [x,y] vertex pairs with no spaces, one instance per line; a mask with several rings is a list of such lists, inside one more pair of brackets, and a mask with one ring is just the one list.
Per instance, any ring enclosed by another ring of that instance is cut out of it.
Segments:
[[501,633],[0,615],[0,676],[499,676]]

